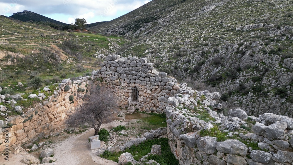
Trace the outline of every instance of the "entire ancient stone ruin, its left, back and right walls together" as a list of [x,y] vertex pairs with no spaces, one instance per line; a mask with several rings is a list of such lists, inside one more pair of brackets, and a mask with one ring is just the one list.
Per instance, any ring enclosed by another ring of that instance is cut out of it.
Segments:
[[[107,56],[102,68],[91,76],[64,79],[42,104],[11,118],[9,145],[35,142],[47,136],[55,124],[83,103],[82,97],[92,84],[112,89],[117,103],[128,113],[165,112],[169,145],[182,165],[293,162],[292,118],[271,113],[248,116],[242,109],[231,109],[224,116],[217,111],[222,108],[218,92],[193,90],[168,78],[166,73],[157,72],[144,58],[120,59],[118,55]],[[3,126],[1,121],[0,126]],[[4,133],[1,130],[0,133],[0,151],[3,151]],[[135,143],[127,142],[124,147]]]

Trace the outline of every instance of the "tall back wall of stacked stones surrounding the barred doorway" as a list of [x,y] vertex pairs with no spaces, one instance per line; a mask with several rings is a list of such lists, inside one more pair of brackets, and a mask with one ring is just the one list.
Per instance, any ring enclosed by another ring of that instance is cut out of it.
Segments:
[[[117,96],[117,103],[127,108],[129,113],[135,110],[162,113],[168,97],[177,93],[180,87],[177,80],[168,78],[165,72],[158,72],[145,58],[121,58],[119,55],[105,57],[102,68],[92,75],[103,79]],[[132,100],[132,88],[138,90],[138,100]]]

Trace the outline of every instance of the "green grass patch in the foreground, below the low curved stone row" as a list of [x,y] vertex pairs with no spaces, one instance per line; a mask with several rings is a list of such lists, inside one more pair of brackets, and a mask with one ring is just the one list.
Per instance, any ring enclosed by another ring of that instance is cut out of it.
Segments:
[[175,158],[174,154],[171,152],[171,149],[168,144],[168,138],[160,138],[160,139],[152,139],[147,140],[137,146],[133,145],[129,149],[126,149],[123,152],[114,152],[111,153],[109,151],[105,151],[101,157],[112,160],[118,163],[118,158],[122,153],[129,152],[132,154],[133,158],[138,161],[143,156],[149,154],[151,152],[151,146],[159,144],[161,145],[162,154],[149,156],[147,159],[153,159],[157,161],[161,165],[178,165],[179,162]]

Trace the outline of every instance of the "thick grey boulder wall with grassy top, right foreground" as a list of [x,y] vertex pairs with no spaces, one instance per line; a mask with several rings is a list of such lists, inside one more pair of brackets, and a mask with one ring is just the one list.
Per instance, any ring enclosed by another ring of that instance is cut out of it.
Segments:
[[[194,110],[185,108],[194,97],[199,105],[194,105]],[[214,111],[219,105],[207,105],[216,103],[219,93],[208,91],[195,91],[195,96],[186,96],[186,101],[179,106],[174,104],[176,97],[170,98],[174,102],[166,106],[168,139],[171,151],[181,165],[293,164],[292,118],[272,113],[257,118],[239,108],[231,109],[228,116],[223,116]],[[200,120],[202,112],[209,113],[215,120]],[[202,137],[200,132],[205,130],[218,133]],[[223,137],[223,133],[227,135]]]

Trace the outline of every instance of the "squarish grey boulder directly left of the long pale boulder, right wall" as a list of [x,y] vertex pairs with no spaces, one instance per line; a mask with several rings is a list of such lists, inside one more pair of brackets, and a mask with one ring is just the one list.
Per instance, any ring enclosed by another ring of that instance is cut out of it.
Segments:
[[196,140],[197,148],[206,154],[213,154],[216,151],[217,141],[214,137],[200,137]]

